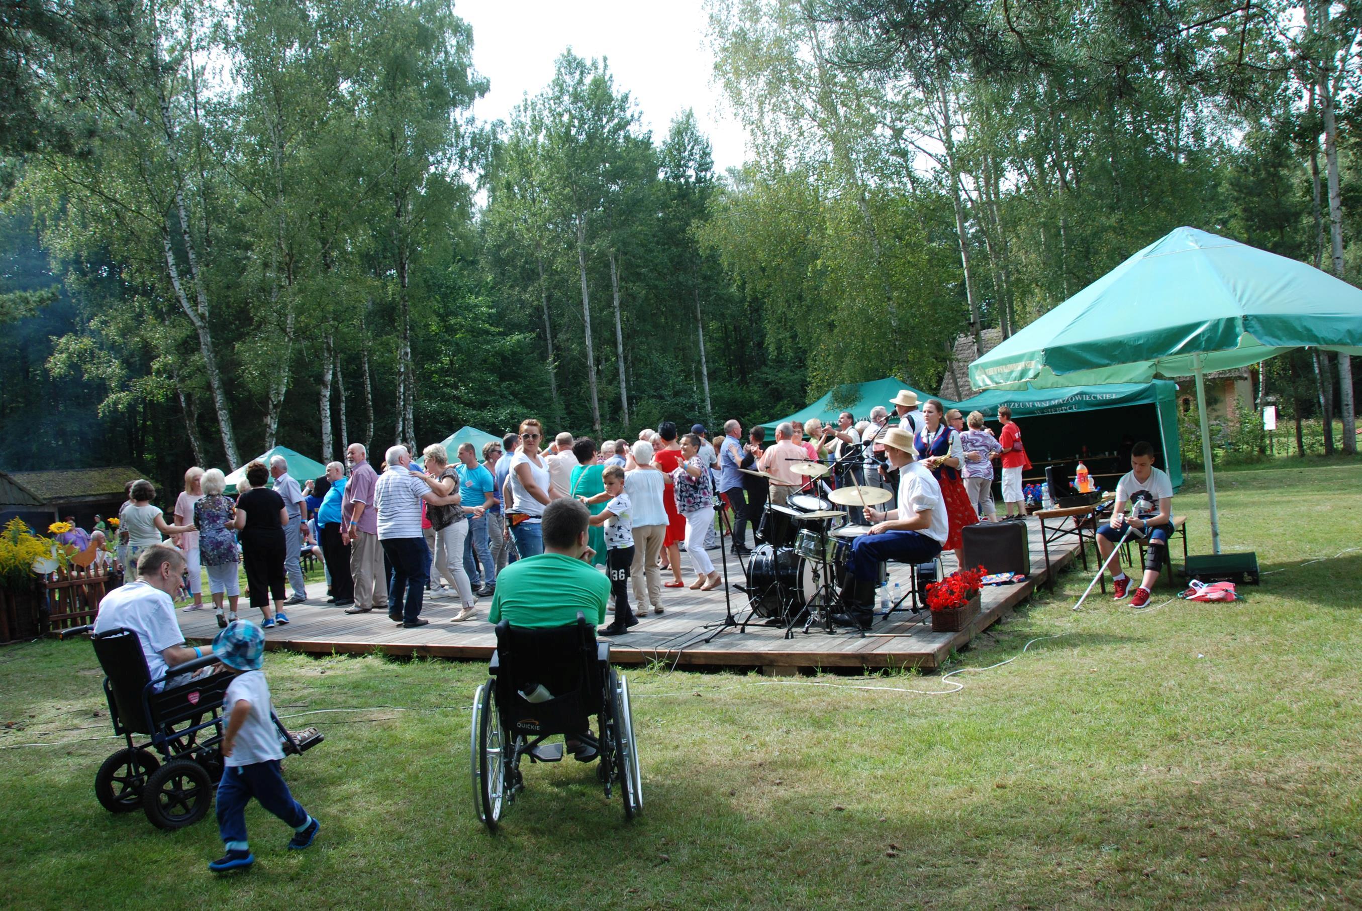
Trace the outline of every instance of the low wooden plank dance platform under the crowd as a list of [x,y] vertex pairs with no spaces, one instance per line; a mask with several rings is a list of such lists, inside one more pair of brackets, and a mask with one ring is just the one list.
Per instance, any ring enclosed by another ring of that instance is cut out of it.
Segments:
[[[794,637],[786,639],[783,628],[761,625],[759,617],[745,632],[727,629],[712,641],[704,643],[703,639],[712,632],[706,629],[706,625],[720,622],[725,617],[723,590],[700,592],[689,588],[663,588],[666,613],[650,614],[628,635],[612,639],[610,655],[621,665],[655,660],[677,667],[760,667],[772,674],[795,673],[805,667],[934,669],[945,662],[953,650],[968,645],[975,635],[1008,614],[1046,580],[1039,523],[1028,519],[1027,527],[1031,538],[1030,579],[1013,586],[986,587],[978,618],[968,629],[957,633],[932,632],[932,618],[926,607],[918,614],[908,613],[910,598],[899,611],[888,617],[877,616],[874,626],[864,637],[846,630],[829,635],[824,628],[813,626],[808,633],[795,628]],[[1072,538],[1068,541],[1073,542]],[[710,556],[718,565],[718,550],[711,550]],[[1051,571],[1058,572],[1077,556],[1076,542],[1051,545]],[[691,561],[685,554],[681,560],[689,584],[695,577]],[[945,571],[951,572],[955,568],[955,557],[944,553],[943,560]],[[729,581],[741,584],[744,573],[738,558],[730,554],[727,562]],[[670,573],[663,573],[663,581],[667,579]],[[908,566],[889,564],[891,590],[895,581],[907,592]],[[458,613],[456,598],[426,592],[421,616],[430,624],[417,629],[403,629],[377,610],[369,614],[346,614],[342,609],[324,603],[324,591],[321,583],[313,583],[308,603],[289,609],[291,622],[287,626],[266,630],[267,647],[321,654],[377,651],[388,655],[479,662],[488,660],[494,648],[494,633],[486,620],[490,598],[478,601],[478,618],[454,624],[449,621]],[[731,601],[733,611],[741,621],[748,616],[748,598],[733,590]],[[178,613],[180,628],[192,641],[211,641],[217,635],[218,625],[211,609]],[[259,620],[259,613],[245,606],[245,598],[240,613],[242,618]]]

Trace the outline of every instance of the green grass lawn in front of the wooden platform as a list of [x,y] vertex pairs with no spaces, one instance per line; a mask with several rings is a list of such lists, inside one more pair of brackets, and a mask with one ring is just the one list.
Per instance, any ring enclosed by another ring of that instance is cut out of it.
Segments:
[[[477,665],[271,652],[286,763],[316,844],[259,806],[256,869],[214,878],[211,817],[110,816],[116,741],[84,641],[0,650],[0,881],[11,907],[1340,907],[1362,904],[1362,463],[1227,473],[1234,605],[1133,611],[1071,573],[941,675],[628,671],[642,820],[594,767],[526,768],[489,836],[469,787]],[[1193,477],[1174,501],[1209,552]],[[953,682],[963,682],[959,692]],[[827,684],[812,686],[809,684]],[[851,685],[883,690],[851,689]],[[929,690],[943,694],[921,694]],[[360,709],[360,711],[349,711]],[[12,727],[10,726],[12,724]],[[56,746],[20,746],[59,742]]]

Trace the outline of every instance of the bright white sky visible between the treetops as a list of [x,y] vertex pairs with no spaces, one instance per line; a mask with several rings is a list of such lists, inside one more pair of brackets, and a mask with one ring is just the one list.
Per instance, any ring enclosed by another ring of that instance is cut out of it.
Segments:
[[742,163],[745,135],[712,84],[700,0],[456,0],[455,12],[473,26],[473,63],[492,80],[478,117],[508,120],[526,93],[549,84],[571,46],[609,60],[616,91],[629,93],[654,142],[691,108],[714,144],[715,170]]

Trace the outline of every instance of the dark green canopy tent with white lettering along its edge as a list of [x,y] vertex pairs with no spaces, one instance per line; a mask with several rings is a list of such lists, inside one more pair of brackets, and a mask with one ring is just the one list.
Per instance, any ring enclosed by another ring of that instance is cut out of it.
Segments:
[[[1012,409],[1012,417],[1024,419],[1027,451],[1038,464],[1064,464],[1065,474],[1072,477],[1072,464],[1066,453],[1077,453],[1083,447],[1110,448],[1110,456],[1086,456],[1086,463],[1095,477],[1103,470],[1121,475],[1130,470],[1129,452],[1115,444],[1128,436],[1135,440],[1145,437],[1160,447],[1160,464],[1169,473],[1173,489],[1182,486],[1182,458],[1179,455],[1177,384],[1170,380],[1154,383],[1110,383],[1106,385],[1061,387],[1038,389],[1027,385],[1024,389],[987,389],[963,402],[949,404],[962,414],[979,411],[985,418],[994,419],[1000,406]],[[1075,422],[1073,414],[1083,413],[1084,419]],[[1109,443],[1110,441],[1110,443]],[[1054,453],[1065,453],[1054,458]],[[1115,482],[1100,481],[1103,488],[1114,488]],[[1058,496],[1062,492],[1056,492]]]

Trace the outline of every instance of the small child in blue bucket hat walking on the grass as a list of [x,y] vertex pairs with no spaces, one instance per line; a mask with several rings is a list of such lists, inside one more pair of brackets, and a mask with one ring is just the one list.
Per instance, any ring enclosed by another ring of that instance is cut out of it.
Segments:
[[270,715],[270,684],[264,671],[264,633],[255,624],[236,620],[212,640],[218,660],[244,671],[227,685],[222,711],[227,730],[222,735],[226,765],[218,782],[218,831],[227,852],[208,865],[214,873],[244,870],[255,863],[247,843],[247,803],[260,806],[293,827],[290,850],[302,850],[317,837],[317,821],[293,799],[279,772],[283,749]]

